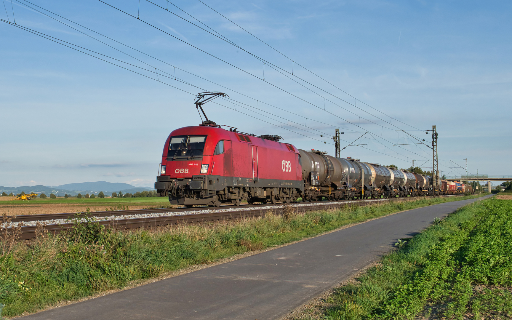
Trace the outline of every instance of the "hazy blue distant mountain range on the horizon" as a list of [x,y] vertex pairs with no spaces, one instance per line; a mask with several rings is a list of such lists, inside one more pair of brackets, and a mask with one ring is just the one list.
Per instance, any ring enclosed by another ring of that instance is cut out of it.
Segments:
[[152,187],[136,187],[127,183],[112,183],[106,181],[96,181],[96,182],[82,182],[82,183],[68,183],[62,184],[58,186],[44,186],[44,185],[34,185],[34,186],[21,186],[21,187],[4,187],[0,186],[0,194],[5,192],[10,194],[11,192],[15,194],[19,194],[24,191],[26,194],[31,192],[33,193],[44,193],[47,196],[50,194],[54,194],[55,196],[63,196],[70,195],[76,196],[80,194],[95,194],[97,195],[100,191],[103,191],[105,196],[110,196],[111,193],[118,193],[121,191],[123,194],[125,193],[136,193],[137,191],[142,192],[144,190],[150,191],[153,190]]

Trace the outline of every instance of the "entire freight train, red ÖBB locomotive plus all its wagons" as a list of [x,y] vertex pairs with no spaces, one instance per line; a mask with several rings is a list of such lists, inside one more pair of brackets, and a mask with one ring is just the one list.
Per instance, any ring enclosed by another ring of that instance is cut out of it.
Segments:
[[[213,94],[221,93],[198,97]],[[200,99],[196,105],[201,104]],[[226,130],[208,119],[181,127],[165,141],[155,189],[171,204],[189,207],[239,205],[243,200],[250,204],[288,203],[473,191],[459,182],[442,181],[437,187],[430,176],[349,157],[335,158],[318,150],[299,150],[280,139],[237,132],[233,127]]]

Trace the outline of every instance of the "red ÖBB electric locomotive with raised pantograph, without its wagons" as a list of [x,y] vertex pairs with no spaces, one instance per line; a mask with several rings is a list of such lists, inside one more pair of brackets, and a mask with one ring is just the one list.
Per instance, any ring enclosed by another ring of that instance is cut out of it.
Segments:
[[[200,94],[196,105],[203,111],[201,104],[219,94]],[[304,190],[301,156],[279,138],[221,129],[208,118],[199,126],[177,129],[165,142],[155,188],[171,204],[188,207],[292,201]]]

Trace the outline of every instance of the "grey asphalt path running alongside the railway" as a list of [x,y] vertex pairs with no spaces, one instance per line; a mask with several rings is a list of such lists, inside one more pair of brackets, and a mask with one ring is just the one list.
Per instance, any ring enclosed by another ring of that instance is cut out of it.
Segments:
[[397,239],[480,199],[400,212],[22,319],[279,319],[378,260]]

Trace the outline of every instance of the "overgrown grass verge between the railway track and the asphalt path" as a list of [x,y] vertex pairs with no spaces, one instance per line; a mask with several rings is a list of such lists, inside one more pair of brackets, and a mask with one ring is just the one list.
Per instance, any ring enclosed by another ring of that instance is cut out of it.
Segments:
[[19,242],[9,247],[7,239],[0,242],[0,303],[6,304],[6,316],[34,312],[62,300],[122,288],[129,281],[153,278],[165,271],[301,240],[392,212],[469,198],[474,197],[402,199],[288,214],[286,218],[268,215],[125,232],[104,232],[102,226],[91,223],[58,236],[39,237],[29,245]]

